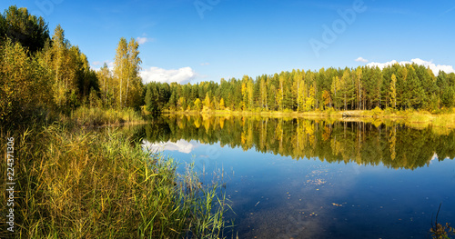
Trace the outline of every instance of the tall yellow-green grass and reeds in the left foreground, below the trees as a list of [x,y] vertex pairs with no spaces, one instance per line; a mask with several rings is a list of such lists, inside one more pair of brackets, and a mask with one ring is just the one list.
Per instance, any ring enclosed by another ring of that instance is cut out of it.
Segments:
[[172,159],[144,152],[116,131],[27,128],[0,131],[2,175],[7,137],[15,138],[16,159],[15,233],[2,223],[1,238],[220,236],[224,202],[216,186],[201,188],[191,171],[177,175]]

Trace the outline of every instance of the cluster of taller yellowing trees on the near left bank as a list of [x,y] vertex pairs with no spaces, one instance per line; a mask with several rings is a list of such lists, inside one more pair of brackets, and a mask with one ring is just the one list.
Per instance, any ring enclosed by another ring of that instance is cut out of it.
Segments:
[[43,17],[10,6],[0,15],[0,121],[42,109],[68,113],[82,105],[138,109],[144,105],[138,46],[122,37],[114,70],[105,63],[96,71],[61,25],[51,36]]

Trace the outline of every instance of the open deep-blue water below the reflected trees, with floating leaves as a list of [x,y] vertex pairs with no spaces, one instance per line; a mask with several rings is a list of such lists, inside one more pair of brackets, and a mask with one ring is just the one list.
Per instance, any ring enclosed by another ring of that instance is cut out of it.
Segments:
[[440,204],[439,222],[455,224],[451,159],[435,155],[410,170],[297,161],[197,141],[164,145],[154,147],[177,159],[180,172],[195,162],[204,184],[226,183],[235,213],[227,213],[227,224],[234,220],[239,238],[430,238]]

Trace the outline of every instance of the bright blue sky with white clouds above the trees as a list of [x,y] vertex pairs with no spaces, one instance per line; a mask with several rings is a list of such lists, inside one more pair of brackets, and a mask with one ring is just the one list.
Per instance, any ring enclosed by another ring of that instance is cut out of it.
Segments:
[[62,25],[94,68],[114,61],[120,37],[141,40],[146,82],[219,81],[393,60],[446,65],[449,72],[455,65],[452,0],[0,3],[2,9],[8,5],[43,15],[51,34]]

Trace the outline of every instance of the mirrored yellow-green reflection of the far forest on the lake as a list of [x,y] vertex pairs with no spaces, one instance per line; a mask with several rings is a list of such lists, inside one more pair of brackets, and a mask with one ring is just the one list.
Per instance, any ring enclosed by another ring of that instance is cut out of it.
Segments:
[[[329,163],[384,164],[416,169],[431,160],[455,157],[455,133],[430,127],[414,129],[389,122],[328,122],[266,117],[167,116],[145,126],[149,142],[169,142],[167,148],[191,151],[201,144],[254,148],[258,152],[319,158]],[[174,143],[172,143],[174,142]]]

